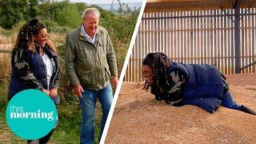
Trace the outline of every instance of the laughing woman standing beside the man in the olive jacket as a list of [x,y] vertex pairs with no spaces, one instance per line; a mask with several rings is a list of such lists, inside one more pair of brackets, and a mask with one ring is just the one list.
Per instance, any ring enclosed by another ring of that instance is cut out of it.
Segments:
[[[8,100],[22,90],[37,89],[49,95],[55,105],[59,103],[58,56],[52,42],[47,40],[46,26],[38,19],[26,22],[19,31],[11,66]],[[53,131],[38,140],[28,140],[28,143],[46,143]]]

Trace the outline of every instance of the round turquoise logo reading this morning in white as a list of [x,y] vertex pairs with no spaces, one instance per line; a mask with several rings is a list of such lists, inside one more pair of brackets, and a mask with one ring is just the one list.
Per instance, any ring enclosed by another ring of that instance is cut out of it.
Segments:
[[8,103],[6,121],[18,137],[33,140],[54,129],[58,114],[48,95],[40,90],[23,90]]

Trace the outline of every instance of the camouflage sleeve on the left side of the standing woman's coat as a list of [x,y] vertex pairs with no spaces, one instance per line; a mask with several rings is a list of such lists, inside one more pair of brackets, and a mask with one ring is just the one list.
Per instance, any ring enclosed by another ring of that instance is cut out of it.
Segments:
[[14,66],[18,70],[18,74],[20,78],[26,82],[26,85],[42,90],[42,85],[38,82],[38,79],[35,78],[33,71],[30,67],[30,58],[32,56],[29,51],[18,50],[16,54],[14,54]]

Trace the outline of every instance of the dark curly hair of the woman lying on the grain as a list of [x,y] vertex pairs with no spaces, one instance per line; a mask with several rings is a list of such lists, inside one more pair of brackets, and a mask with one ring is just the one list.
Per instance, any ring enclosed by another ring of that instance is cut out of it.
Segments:
[[[166,77],[167,68],[169,67],[169,58],[162,52],[150,53],[142,61],[142,66],[147,65],[152,69],[153,81],[155,85],[159,85],[163,78]],[[149,89],[149,83],[145,82],[143,89]]]

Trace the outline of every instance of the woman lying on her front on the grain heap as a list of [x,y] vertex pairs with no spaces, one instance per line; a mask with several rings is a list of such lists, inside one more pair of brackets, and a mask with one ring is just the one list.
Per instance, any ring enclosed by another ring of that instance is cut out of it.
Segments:
[[144,89],[158,101],[173,106],[194,105],[214,113],[222,105],[254,114],[246,106],[234,102],[226,78],[215,66],[172,62],[162,52],[150,53],[142,61]]

